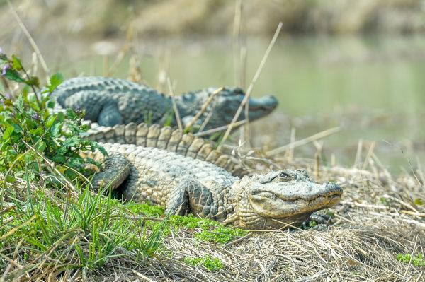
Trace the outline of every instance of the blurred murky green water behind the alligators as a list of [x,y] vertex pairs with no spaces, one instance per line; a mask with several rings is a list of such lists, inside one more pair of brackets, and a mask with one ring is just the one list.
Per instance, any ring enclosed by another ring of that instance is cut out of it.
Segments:
[[[246,84],[267,45],[268,38],[246,40]],[[239,84],[231,40],[140,41],[137,54],[145,83],[155,88],[164,87],[162,71],[176,93]],[[101,75],[115,55],[105,58],[86,54],[68,63],[65,74]],[[113,76],[127,75],[128,58],[113,69]],[[254,146],[287,144],[291,127],[302,139],[339,126],[323,140],[325,157],[334,154],[339,164],[353,163],[359,139],[366,146],[363,157],[375,142],[376,155],[391,170],[409,170],[407,160],[415,166],[425,156],[425,37],[282,37],[253,93],[273,93],[280,101],[276,114],[254,124]],[[295,153],[312,158],[314,151],[310,144]]]

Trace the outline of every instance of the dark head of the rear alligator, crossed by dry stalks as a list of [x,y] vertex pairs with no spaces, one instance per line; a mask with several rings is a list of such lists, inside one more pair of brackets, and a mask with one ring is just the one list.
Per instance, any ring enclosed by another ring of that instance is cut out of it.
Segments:
[[[188,123],[203,108],[212,93],[218,88],[207,88],[195,93],[186,93],[177,100],[183,123]],[[224,87],[220,93],[208,104],[205,112],[199,117],[196,124],[200,125],[208,119],[206,129],[214,129],[230,124],[239,105],[244,100],[245,93],[239,87]],[[261,98],[249,98],[249,120],[253,121],[270,114],[278,105],[278,100],[273,95]],[[245,119],[245,110],[242,110],[238,120]]]

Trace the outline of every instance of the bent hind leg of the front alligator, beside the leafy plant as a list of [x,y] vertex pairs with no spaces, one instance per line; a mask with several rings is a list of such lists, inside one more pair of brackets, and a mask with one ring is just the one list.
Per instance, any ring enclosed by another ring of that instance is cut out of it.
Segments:
[[120,153],[109,155],[102,165],[103,170],[96,173],[91,182],[96,192],[105,187],[117,189],[130,175],[130,162]]

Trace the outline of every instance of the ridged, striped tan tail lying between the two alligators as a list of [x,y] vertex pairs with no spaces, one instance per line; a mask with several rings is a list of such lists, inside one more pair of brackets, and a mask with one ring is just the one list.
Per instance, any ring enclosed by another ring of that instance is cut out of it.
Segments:
[[142,147],[160,148],[179,155],[205,160],[224,168],[232,175],[242,177],[249,170],[233,156],[213,148],[206,139],[183,133],[180,129],[162,127],[159,124],[148,126],[145,123],[117,124],[113,127],[92,127],[84,133],[87,139],[98,143],[135,144]]

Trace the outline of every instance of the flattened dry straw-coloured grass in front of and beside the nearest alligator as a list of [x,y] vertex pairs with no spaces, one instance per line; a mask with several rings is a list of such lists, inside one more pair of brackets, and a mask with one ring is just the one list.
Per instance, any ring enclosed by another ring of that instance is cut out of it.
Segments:
[[[322,230],[255,231],[227,245],[201,242],[190,231],[171,233],[162,252],[147,261],[113,259],[84,279],[67,281],[423,281],[424,267],[399,262],[397,254],[424,254],[423,183],[385,169],[319,167],[314,160],[269,160],[278,167],[306,168],[318,181],[344,187],[329,209],[334,224]],[[258,161],[251,166],[259,168]],[[246,162],[244,162],[246,163]],[[253,169],[254,170],[254,169]],[[318,171],[315,171],[318,170]],[[416,204],[415,204],[416,201]],[[214,257],[224,268],[209,271],[186,257]]]

